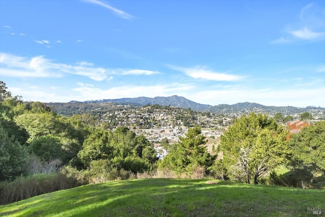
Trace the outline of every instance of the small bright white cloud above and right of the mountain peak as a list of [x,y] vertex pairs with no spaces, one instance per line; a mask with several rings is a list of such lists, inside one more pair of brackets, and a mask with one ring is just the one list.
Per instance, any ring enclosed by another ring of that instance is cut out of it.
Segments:
[[236,81],[243,77],[231,75],[228,73],[213,72],[206,70],[203,67],[197,66],[195,68],[184,68],[170,66],[171,69],[185,73],[186,75],[195,79],[214,80],[214,81]]

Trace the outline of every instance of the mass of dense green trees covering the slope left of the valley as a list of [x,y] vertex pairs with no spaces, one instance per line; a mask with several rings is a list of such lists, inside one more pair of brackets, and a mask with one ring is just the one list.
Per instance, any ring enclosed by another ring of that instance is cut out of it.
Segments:
[[156,161],[144,136],[126,127],[104,130],[87,114],[65,117],[43,103],[22,102],[0,82],[0,181],[76,167],[79,172],[68,169],[65,175],[84,170],[91,183],[103,176],[98,171],[116,171],[106,180],[127,178],[152,171]]

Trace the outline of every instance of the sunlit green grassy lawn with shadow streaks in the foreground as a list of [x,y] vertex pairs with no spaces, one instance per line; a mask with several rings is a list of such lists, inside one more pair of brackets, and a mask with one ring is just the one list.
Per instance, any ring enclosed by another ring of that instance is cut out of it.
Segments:
[[0,206],[0,216],[315,216],[325,191],[200,179],[89,184]]

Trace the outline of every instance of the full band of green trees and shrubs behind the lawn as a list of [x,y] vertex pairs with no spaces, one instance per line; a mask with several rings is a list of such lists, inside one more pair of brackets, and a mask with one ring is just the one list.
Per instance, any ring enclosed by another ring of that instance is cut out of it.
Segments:
[[283,118],[243,114],[227,123],[211,153],[204,126],[190,115],[184,119],[188,131],[160,160],[153,141],[129,127],[113,129],[90,114],[63,116],[44,103],[23,102],[2,81],[0,114],[0,204],[83,184],[151,177],[325,188],[323,120],[287,140]]

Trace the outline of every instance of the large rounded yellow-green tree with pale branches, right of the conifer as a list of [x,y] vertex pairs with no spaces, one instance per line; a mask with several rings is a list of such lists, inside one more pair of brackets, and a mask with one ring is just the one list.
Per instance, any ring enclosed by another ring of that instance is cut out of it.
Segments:
[[235,180],[258,183],[258,178],[285,163],[287,131],[276,120],[261,113],[236,119],[221,136],[220,150],[228,176]]

